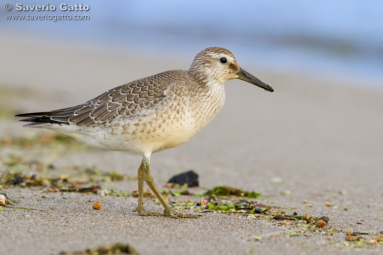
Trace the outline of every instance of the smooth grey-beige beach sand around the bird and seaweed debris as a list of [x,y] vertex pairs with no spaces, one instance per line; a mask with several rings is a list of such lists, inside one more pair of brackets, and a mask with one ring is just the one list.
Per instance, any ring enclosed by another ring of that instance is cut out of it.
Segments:
[[[0,39],[0,89],[8,93],[0,106],[9,107],[12,114],[75,106],[135,79],[188,69],[197,54],[184,59],[143,55],[135,49],[117,54],[102,46],[74,49],[50,40],[19,39],[9,34]],[[236,56],[235,49],[230,50]],[[11,186],[7,194],[20,201],[18,206],[55,210],[47,214],[3,208],[0,226],[7,242],[0,253],[58,254],[116,242],[132,245],[139,254],[383,252],[382,245],[343,244],[348,228],[369,234],[383,231],[383,91],[357,87],[363,77],[350,81],[275,72],[262,69],[261,63],[245,66],[240,57],[236,60],[275,92],[239,80],[227,82],[223,110],[200,134],[152,156],[155,183],[161,190],[174,174],[193,169],[200,183],[200,188],[189,189],[193,193],[219,185],[254,190],[262,194],[253,199],[258,203],[291,208],[291,213],[325,215],[330,218],[328,226],[339,232],[289,236],[289,225],[220,213],[204,213],[198,219],[139,217],[133,212],[137,198],[131,196],[45,194],[39,188]],[[0,119],[0,138],[49,133],[21,129],[17,120]],[[68,151],[47,157],[33,148],[17,152],[0,147],[0,159],[11,154],[50,162],[58,173],[66,165],[97,166],[134,176],[141,161],[116,151]],[[137,182],[113,186],[130,194]],[[92,210],[90,201],[101,201],[102,210]],[[162,210],[156,199],[146,198],[145,203],[149,210]]]

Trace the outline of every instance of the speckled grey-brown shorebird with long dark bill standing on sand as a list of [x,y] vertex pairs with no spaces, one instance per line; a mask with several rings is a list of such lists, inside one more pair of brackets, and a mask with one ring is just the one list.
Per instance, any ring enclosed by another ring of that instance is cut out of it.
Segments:
[[[152,153],[192,139],[222,109],[224,83],[241,79],[267,91],[270,85],[238,66],[233,54],[219,47],[202,50],[189,70],[165,71],[94,97],[85,104],[49,111],[18,114],[25,127],[54,130],[87,145],[127,151],[143,157],[138,168],[138,206],[141,216],[193,218],[171,208],[153,182],[149,170]],[[143,207],[143,182],[164,207],[164,213]]]

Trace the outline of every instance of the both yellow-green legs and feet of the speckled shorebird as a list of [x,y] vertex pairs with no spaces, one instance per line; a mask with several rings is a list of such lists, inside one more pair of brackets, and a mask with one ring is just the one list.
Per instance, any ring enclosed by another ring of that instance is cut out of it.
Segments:
[[[149,158],[143,157],[140,168],[138,169],[138,207],[136,211],[139,215],[148,215],[148,216],[158,216],[157,213],[149,213],[143,209],[143,180],[148,184],[149,188],[153,191],[153,193],[157,196],[158,200],[162,203],[164,207],[163,216],[170,217],[181,217],[181,218],[197,218],[197,215],[192,214],[182,214],[174,209],[172,209],[168,202],[166,202],[165,198],[161,195],[156,185],[154,184],[153,177],[150,174],[149,168]],[[141,194],[141,195],[140,195]]]

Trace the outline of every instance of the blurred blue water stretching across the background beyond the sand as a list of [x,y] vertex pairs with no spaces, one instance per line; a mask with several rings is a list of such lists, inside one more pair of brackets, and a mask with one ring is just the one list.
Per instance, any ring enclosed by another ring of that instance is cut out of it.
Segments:
[[[6,3],[13,5],[5,11]],[[57,7],[20,12],[17,3]],[[63,12],[61,3],[88,5]],[[113,50],[183,52],[209,46],[241,55],[241,62],[277,70],[338,75],[383,88],[382,1],[4,1],[0,29],[58,40],[110,45]],[[90,20],[6,20],[6,15],[89,15]],[[73,45],[76,47],[76,43]]]

